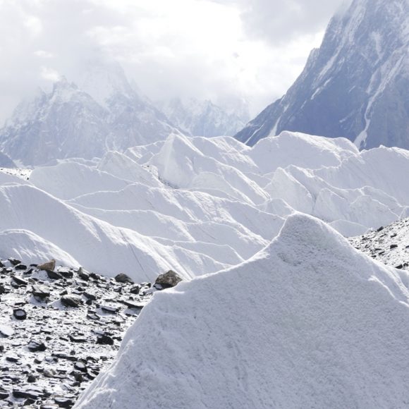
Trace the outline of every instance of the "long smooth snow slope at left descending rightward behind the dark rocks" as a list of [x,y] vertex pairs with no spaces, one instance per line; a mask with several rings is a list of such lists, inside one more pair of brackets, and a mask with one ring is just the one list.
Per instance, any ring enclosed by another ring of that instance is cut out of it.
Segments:
[[[0,186],[0,212],[0,231],[30,231],[44,245],[53,243],[80,265],[107,276],[127,271],[135,279],[152,280],[160,271],[174,268],[190,278],[226,267],[206,255],[161,245],[136,231],[78,212],[30,185]],[[1,254],[9,251],[8,243],[1,243]]]

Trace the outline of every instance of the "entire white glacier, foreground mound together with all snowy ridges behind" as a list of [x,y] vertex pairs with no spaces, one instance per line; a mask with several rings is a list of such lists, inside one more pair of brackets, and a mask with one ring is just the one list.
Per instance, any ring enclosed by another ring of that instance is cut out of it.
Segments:
[[78,408],[409,400],[408,273],[343,237],[409,215],[408,151],[292,132],[253,147],[171,134],[8,173],[0,258],[185,281],[154,293]]

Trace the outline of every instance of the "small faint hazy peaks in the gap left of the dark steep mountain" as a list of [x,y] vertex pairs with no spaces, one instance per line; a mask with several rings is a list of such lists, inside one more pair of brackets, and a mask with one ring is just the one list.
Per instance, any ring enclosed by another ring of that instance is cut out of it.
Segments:
[[209,100],[189,99],[183,102],[176,98],[160,107],[178,128],[195,136],[234,135],[249,119],[245,109],[228,111]]

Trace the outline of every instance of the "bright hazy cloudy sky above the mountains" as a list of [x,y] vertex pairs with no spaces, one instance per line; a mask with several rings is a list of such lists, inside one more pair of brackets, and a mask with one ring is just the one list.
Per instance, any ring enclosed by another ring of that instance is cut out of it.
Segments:
[[281,94],[343,0],[0,0],[0,121],[83,61],[119,61],[152,99]]

